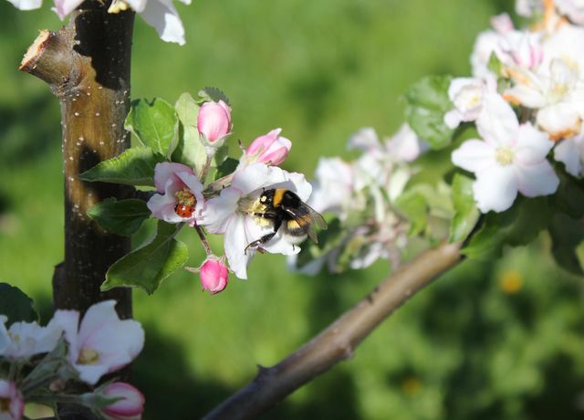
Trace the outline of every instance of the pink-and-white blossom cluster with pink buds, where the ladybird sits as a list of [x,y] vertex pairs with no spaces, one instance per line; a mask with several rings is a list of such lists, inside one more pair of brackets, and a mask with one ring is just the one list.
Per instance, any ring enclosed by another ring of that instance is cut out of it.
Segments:
[[[247,148],[240,145],[242,154],[233,160],[233,172],[214,179],[209,167],[232,134],[231,108],[224,100],[206,100],[192,118],[196,118],[198,131],[195,141],[206,152],[203,169],[197,172],[184,163],[158,163],[154,168],[156,193],[147,205],[154,217],[198,231],[207,257],[201,267],[190,269],[200,273],[203,289],[215,294],[226,287],[229,270],[237,278],[247,278],[247,265],[257,251],[287,256],[300,251],[296,242],[261,217],[258,200],[266,190],[286,189],[305,202],[312,186],[303,174],[277,166],[292,146],[279,128],[257,137]],[[224,235],[224,257],[211,250],[205,236],[209,233]],[[250,246],[262,238],[269,240]]]

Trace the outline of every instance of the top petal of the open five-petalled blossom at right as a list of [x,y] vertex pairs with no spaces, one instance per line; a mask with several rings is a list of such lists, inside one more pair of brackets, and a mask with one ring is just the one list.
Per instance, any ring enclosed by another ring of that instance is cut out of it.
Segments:
[[476,120],[476,128],[485,142],[493,146],[513,146],[519,122],[511,105],[503,97],[488,93]]

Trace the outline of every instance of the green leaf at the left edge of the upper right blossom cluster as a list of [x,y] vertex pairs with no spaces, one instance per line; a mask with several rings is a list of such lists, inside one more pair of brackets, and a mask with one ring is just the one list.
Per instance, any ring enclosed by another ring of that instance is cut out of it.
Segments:
[[452,142],[454,130],[444,124],[444,113],[453,108],[448,98],[450,76],[429,76],[406,93],[406,115],[412,130],[433,149],[442,149]]

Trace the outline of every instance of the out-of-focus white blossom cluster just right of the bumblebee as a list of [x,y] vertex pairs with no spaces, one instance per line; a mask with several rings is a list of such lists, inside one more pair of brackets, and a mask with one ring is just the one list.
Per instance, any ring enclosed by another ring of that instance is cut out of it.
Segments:
[[348,149],[360,152],[360,157],[352,162],[321,158],[308,205],[336,217],[339,228],[336,232],[330,229],[324,247],[289,257],[289,266],[313,275],[325,266],[339,272],[367,268],[385,258],[396,267],[410,226],[399,202],[414,173],[412,163],[427,148],[403,124],[383,141],[372,128],[357,131],[350,137]]

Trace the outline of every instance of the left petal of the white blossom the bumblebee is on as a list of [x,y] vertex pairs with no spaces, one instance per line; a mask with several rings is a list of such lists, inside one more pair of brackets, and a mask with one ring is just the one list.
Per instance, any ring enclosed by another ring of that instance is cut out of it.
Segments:
[[221,194],[205,202],[199,225],[205,226],[212,234],[223,234],[231,218],[235,217],[241,196],[241,191],[234,187],[224,188]]

